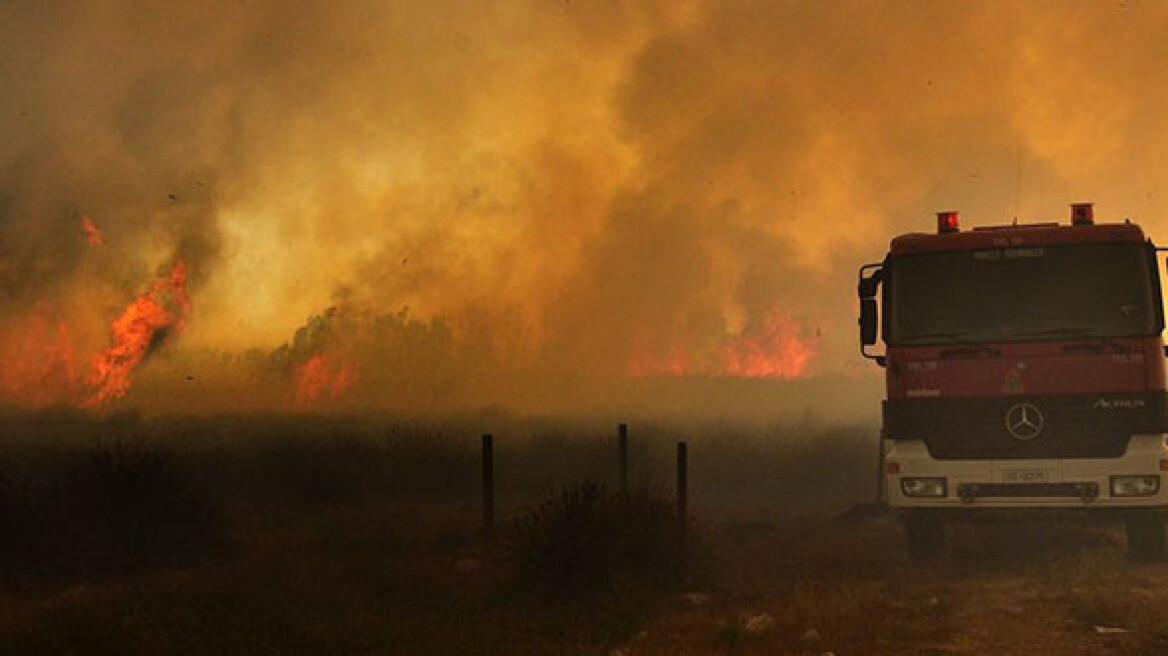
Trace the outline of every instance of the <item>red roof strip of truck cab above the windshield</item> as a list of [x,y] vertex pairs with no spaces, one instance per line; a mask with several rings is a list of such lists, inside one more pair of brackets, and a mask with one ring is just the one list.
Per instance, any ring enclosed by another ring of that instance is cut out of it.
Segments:
[[901,235],[889,245],[889,254],[976,251],[1048,244],[1142,243],[1143,239],[1143,230],[1134,223],[995,225],[945,235],[925,232]]

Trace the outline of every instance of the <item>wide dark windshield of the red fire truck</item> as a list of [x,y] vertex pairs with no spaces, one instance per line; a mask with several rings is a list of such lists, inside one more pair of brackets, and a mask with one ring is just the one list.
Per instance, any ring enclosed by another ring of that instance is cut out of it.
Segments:
[[885,271],[884,339],[895,346],[1157,335],[1142,244],[901,256]]

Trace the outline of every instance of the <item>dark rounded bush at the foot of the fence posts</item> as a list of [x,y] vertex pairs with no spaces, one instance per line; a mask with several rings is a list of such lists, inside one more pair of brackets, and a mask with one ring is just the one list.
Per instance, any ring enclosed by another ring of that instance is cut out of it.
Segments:
[[584,482],[520,519],[509,554],[520,582],[549,599],[593,596],[620,581],[679,585],[688,564],[681,528],[661,495]]

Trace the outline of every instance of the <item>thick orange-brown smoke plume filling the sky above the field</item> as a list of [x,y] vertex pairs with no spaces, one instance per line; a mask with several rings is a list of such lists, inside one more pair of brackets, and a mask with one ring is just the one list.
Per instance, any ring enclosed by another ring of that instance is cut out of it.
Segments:
[[[770,412],[853,381],[842,405],[871,405],[854,271],[932,211],[1065,219],[1092,200],[1168,239],[1166,18],[5,2],[4,400],[83,393],[111,323],[181,261],[185,330],[119,403]],[[68,357],[13,355],[29,348]],[[774,382],[742,393],[752,377]]]

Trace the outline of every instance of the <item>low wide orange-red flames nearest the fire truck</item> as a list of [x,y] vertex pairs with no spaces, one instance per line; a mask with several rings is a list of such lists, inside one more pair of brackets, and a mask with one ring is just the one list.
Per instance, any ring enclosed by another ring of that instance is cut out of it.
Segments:
[[752,329],[717,340],[655,344],[640,340],[630,364],[633,377],[709,376],[790,379],[806,376],[815,339],[793,319],[772,310]]

